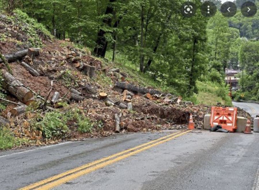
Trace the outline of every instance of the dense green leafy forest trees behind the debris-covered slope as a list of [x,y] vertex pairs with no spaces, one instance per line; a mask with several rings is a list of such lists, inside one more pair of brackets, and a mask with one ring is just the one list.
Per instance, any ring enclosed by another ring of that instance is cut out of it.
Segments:
[[[19,9],[42,23],[58,39],[70,39],[105,58],[125,58],[161,85],[184,96],[198,93],[197,81],[226,87],[225,69],[240,69],[242,93],[259,100],[258,13],[238,11],[231,18],[220,11],[208,18],[185,18],[172,0],[1,0],[10,14]],[[221,2],[213,1],[218,9]],[[258,2],[256,2],[258,6]]]

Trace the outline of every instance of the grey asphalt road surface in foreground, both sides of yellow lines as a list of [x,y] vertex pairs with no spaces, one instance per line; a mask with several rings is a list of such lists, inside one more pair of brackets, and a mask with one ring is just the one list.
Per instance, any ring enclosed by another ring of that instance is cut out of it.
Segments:
[[[119,134],[1,152],[0,189],[21,188],[171,133]],[[54,189],[259,189],[258,142],[259,133],[195,130]]]

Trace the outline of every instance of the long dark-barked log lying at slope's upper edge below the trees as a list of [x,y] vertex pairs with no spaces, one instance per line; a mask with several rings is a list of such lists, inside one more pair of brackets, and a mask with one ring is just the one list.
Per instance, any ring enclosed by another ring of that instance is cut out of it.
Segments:
[[149,93],[151,95],[153,95],[153,94],[162,94],[158,90],[146,89],[146,88],[143,88],[143,87],[138,87],[136,85],[128,84],[127,82],[116,82],[115,83],[115,87],[121,88],[123,90],[129,90],[129,91],[132,91],[132,92],[137,92],[137,93],[140,93],[140,94],[146,94],[146,93]]

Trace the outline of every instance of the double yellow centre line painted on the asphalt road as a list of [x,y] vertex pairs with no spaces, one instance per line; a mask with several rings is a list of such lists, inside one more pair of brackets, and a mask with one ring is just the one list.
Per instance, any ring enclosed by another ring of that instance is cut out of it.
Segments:
[[113,164],[117,161],[120,161],[122,159],[130,157],[132,155],[135,155],[137,153],[140,153],[142,151],[145,151],[147,149],[150,149],[150,148],[155,147],[157,145],[160,145],[162,143],[165,143],[165,142],[167,142],[169,140],[172,140],[174,138],[177,138],[179,136],[182,136],[182,135],[184,135],[184,134],[186,134],[190,131],[191,130],[188,130],[188,131],[182,130],[182,131],[164,136],[162,138],[152,140],[148,143],[144,143],[144,144],[136,146],[134,148],[127,149],[125,151],[113,154],[113,155],[108,156],[108,157],[104,157],[102,159],[93,161],[93,162],[85,164],[83,166],[79,166],[79,167],[74,168],[72,170],[68,170],[68,171],[63,172],[61,174],[58,174],[56,176],[52,176],[50,178],[41,180],[37,183],[34,183],[34,184],[29,185],[29,186],[23,187],[22,189],[24,189],[24,190],[28,190],[28,189],[51,189],[51,188],[56,187],[58,185],[64,184],[64,183],[66,183],[70,180],[78,178],[82,175],[88,174],[90,172],[93,172],[95,170],[103,168],[107,165]]

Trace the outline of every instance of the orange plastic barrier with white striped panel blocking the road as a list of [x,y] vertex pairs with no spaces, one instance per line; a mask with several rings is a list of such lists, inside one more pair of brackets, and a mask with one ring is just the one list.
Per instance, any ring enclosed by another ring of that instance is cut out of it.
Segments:
[[211,127],[220,125],[222,129],[235,132],[237,129],[237,108],[212,107],[210,125]]

